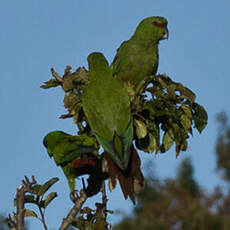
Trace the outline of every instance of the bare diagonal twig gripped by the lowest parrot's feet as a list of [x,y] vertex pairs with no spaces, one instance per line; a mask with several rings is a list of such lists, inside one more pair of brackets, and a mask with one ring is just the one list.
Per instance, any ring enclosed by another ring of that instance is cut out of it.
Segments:
[[81,210],[81,207],[85,203],[86,199],[87,199],[87,195],[86,195],[85,191],[82,189],[80,191],[80,196],[76,200],[73,208],[70,210],[67,217],[63,218],[63,221],[62,221],[62,224],[61,224],[61,227],[59,228],[59,230],[66,230],[70,226],[70,224],[74,221],[78,212]]

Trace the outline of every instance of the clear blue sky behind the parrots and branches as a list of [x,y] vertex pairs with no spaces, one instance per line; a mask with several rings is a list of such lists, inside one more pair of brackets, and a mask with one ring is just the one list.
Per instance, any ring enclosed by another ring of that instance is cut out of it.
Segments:
[[[215,142],[216,114],[230,112],[229,9],[229,0],[1,0],[0,212],[14,210],[13,198],[24,175],[35,175],[38,183],[58,176],[53,190],[59,196],[47,209],[49,229],[58,229],[72,204],[63,173],[48,157],[42,139],[53,130],[74,134],[76,128],[71,119],[58,119],[66,112],[61,88],[39,86],[51,78],[51,67],[61,75],[66,65],[73,70],[87,67],[93,51],[103,52],[111,62],[121,42],[148,16],[164,16],[169,22],[169,40],[160,43],[158,72],[193,90],[209,121],[201,135],[194,132],[186,153],[177,159],[174,150],[157,156],[140,153],[143,165],[152,159],[163,179],[175,176],[183,158],[191,156],[195,178],[204,189],[224,185],[215,172]],[[120,189],[109,192],[109,198],[110,209],[132,213],[132,203],[123,199]],[[109,217],[112,223],[119,219]],[[36,220],[30,227],[41,229]]]

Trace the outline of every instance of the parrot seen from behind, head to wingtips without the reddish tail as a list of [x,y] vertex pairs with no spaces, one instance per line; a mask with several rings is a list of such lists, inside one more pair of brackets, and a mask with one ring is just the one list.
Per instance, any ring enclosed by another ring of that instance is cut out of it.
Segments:
[[123,83],[112,76],[102,53],[88,56],[89,85],[82,94],[83,111],[98,142],[121,170],[129,163],[133,139],[130,100]]

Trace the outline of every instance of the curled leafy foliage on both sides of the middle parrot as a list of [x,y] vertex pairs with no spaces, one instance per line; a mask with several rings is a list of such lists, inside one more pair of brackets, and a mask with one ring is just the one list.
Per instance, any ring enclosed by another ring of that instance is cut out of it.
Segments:
[[[80,67],[71,73],[67,66],[63,77],[57,77],[54,70],[52,74],[55,81],[51,79],[41,87],[56,87],[57,82],[62,86],[65,91],[64,106],[69,112],[60,118],[73,117],[79,133],[91,134],[81,99],[89,83],[87,70]],[[195,94],[181,83],[174,82],[166,74],[152,76],[150,79],[136,92],[127,87],[132,95],[130,99],[136,147],[147,153],[164,153],[175,143],[178,155],[181,150],[187,149],[187,140],[193,134],[193,128],[201,133],[206,127],[208,115],[204,107],[195,102]]]

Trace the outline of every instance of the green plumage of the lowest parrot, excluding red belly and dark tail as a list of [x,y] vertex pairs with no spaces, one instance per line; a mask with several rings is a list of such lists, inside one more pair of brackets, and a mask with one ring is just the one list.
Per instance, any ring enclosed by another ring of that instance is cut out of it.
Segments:
[[43,140],[44,146],[50,157],[54,158],[57,166],[61,166],[71,191],[75,189],[75,179],[80,175],[72,163],[82,157],[97,156],[98,144],[95,139],[81,134],[72,136],[62,131],[53,131],[47,134]]

